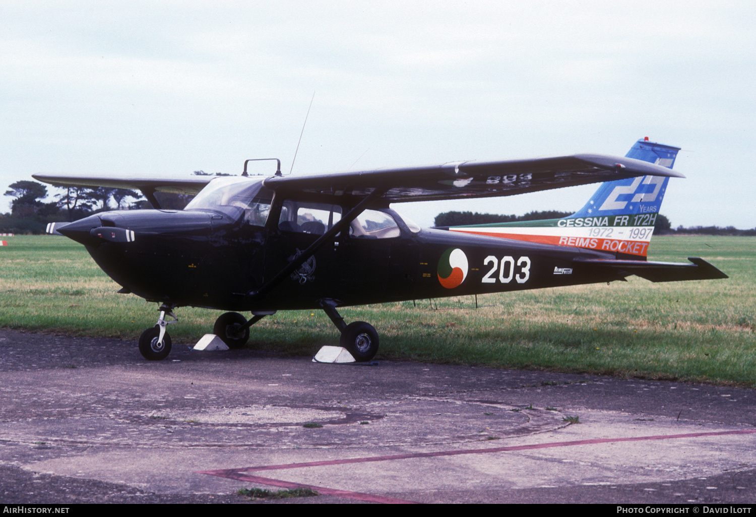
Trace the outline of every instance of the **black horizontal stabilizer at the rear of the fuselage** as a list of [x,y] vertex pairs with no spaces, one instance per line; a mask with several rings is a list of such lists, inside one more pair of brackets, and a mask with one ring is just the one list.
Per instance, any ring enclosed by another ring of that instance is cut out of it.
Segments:
[[692,264],[677,262],[647,262],[644,260],[612,260],[603,258],[575,258],[575,262],[606,268],[629,276],[634,274],[652,282],[677,282],[680,280],[714,280],[728,278],[703,258],[688,257]]

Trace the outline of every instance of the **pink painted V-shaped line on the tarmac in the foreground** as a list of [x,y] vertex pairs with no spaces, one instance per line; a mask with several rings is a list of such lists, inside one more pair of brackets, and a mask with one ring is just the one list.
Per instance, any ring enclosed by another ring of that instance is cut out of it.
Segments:
[[321,494],[336,495],[339,497],[346,497],[349,499],[371,501],[375,503],[411,503],[412,501],[395,499],[392,497],[382,497],[372,494],[361,494],[359,492],[341,491],[333,488],[315,487],[313,485],[293,483],[290,481],[283,481],[272,478],[262,478],[256,475],[249,475],[245,472],[259,472],[264,470],[284,470],[284,469],[304,469],[315,466],[333,466],[333,465],[346,465],[349,463],[370,463],[376,461],[391,461],[391,460],[410,460],[413,458],[432,458],[442,456],[459,456],[460,454],[490,454],[497,452],[511,452],[514,450],[532,450],[532,449],[546,449],[550,447],[572,447],[575,445],[591,445],[591,444],[610,444],[621,441],[649,441],[649,440],[673,440],[675,438],[700,438],[704,436],[724,436],[724,435],[750,435],[756,433],[756,429],[745,429],[741,431],[720,431],[720,432],[690,432],[680,435],[652,435],[652,436],[634,436],[630,438],[592,438],[589,440],[574,440],[574,441],[552,441],[546,444],[529,444],[529,445],[511,445],[509,447],[487,447],[483,449],[465,449],[465,450],[439,450],[437,452],[430,453],[412,453],[412,454],[392,454],[388,456],[370,456],[362,458],[347,458],[344,460],[325,460],[325,461],[311,461],[306,463],[283,463],[280,465],[262,465],[243,467],[241,469],[218,469],[218,470],[205,470],[197,472],[197,474],[215,475],[221,478],[239,479],[241,481],[250,481],[260,484],[268,484],[271,486],[281,488],[311,488],[320,492]]

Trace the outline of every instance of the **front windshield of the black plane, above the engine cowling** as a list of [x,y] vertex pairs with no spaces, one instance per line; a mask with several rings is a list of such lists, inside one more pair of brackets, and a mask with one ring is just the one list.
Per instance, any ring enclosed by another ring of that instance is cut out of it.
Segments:
[[244,217],[249,224],[262,226],[268,218],[273,193],[262,180],[242,176],[212,179],[184,210],[215,210],[231,218]]

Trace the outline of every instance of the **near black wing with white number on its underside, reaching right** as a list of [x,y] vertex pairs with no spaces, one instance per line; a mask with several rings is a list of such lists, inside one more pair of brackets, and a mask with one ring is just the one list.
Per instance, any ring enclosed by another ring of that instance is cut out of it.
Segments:
[[505,162],[445,163],[440,166],[341,172],[324,175],[273,176],[265,186],[279,192],[311,197],[361,199],[385,190],[381,200],[409,201],[513,196],[561,187],[573,187],[635,176],[684,178],[667,167],[632,158],[575,154],[556,158]]

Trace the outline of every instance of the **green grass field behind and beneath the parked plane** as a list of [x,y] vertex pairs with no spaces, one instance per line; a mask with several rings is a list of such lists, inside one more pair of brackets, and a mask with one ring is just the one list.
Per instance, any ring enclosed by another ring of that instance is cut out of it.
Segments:
[[[0,327],[132,339],[156,304],[119,286],[83,246],[63,237],[4,237]],[[650,283],[637,277],[575,286],[339,311],[373,324],[378,358],[608,373],[756,387],[756,237],[654,237],[649,259],[700,256],[727,280]],[[220,311],[179,308],[173,342],[192,343]],[[314,354],[338,333],[322,311],[279,312],[252,327],[249,346]]]

